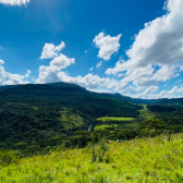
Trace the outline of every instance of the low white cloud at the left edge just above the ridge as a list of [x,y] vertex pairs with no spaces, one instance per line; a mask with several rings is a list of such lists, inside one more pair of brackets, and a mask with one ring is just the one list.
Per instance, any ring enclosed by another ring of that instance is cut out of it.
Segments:
[[4,61],[0,60],[0,85],[15,85],[29,83],[25,81],[25,78],[28,77],[32,73],[29,70],[27,70],[27,73],[25,75],[12,74],[5,71],[4,66],[2,66],[3,64]]

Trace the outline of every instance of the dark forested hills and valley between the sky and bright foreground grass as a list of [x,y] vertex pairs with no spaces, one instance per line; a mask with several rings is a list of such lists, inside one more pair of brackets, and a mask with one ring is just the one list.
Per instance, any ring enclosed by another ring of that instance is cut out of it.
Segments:
[[[60,144],[84,147],[101,137],[171,136],[183,132],[183,107],[182,99],[167,101],[97,94],[68,83],[3,86],[0,148],[32,154]],[[98,120],[105,117],[113,120]]]

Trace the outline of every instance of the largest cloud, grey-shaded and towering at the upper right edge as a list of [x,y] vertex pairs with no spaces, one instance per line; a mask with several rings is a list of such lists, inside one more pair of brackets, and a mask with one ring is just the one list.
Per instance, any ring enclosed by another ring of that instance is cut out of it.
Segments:
[[134,85],[155,85],[179,76],[183,62],[183,1],[168,0],[167,13],[145,24],[126,51],[129,60],[120,60],[106,74],[124,74]]

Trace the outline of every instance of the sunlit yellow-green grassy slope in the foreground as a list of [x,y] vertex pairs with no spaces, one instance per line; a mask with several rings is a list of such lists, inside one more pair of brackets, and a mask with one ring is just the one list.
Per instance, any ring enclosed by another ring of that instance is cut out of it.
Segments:
[[[160,135],[106,144],[102,159],[93,159],[94,148],[58,146],[45,156],[20,159],[13,151],[1,158],[0,182],[8,183],[120,183],[183,182],[183,134]],[[2,155],[5,154],[1,151]],[[12,156],[9,163],[8,161]]]

